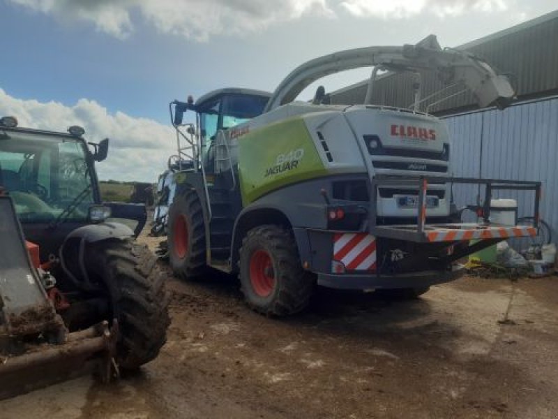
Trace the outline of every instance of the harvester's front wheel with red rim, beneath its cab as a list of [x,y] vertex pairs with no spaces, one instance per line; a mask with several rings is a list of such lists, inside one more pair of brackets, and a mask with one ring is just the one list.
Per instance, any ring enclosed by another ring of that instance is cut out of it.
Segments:
[[169,259],[181,279],[199,277],[206,270],[205,228],[202,204],[195,191],[174,197],[169,208]]

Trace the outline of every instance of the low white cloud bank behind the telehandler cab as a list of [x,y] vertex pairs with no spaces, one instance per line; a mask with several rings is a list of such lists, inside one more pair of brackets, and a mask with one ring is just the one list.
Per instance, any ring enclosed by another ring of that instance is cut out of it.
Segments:
[[155,182],[166,168],[168,156],[176,153],[170,126],[123,112],[110,114],[89,99],[66,106],[14,98],[0,89],[0,115],[17,117],[20,126],[49,131],[66,131],[70,125],[80,125],[92,142],[110,138],[109,156],[97,166],[101,179]]

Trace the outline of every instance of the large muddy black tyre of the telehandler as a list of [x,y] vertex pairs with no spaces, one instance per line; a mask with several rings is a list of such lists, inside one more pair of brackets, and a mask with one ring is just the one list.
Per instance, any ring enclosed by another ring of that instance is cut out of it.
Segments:
[[137,369],[156,358],[167,340],[169,295],[157,259],[131,240],[102,242],[88,251],[90,276],[105,284],[111,316],[119,322],[116,362]]

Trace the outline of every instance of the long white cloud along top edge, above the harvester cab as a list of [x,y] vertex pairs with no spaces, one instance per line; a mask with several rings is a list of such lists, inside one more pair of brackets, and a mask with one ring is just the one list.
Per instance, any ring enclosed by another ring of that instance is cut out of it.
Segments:
[[37,12],[92,23],[117,38],[133,32],[137,10],[158,31],[205,41],[218,34],[243,34],[306,14],[332,16],[326,0],[9,0]]

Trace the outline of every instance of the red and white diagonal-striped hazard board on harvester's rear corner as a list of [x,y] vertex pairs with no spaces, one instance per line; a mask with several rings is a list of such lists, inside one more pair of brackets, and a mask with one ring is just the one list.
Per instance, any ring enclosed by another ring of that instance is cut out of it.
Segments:
[[333,260],[341,262],[347,270],[375,270],[376,237],[366,233],[335,233]]

